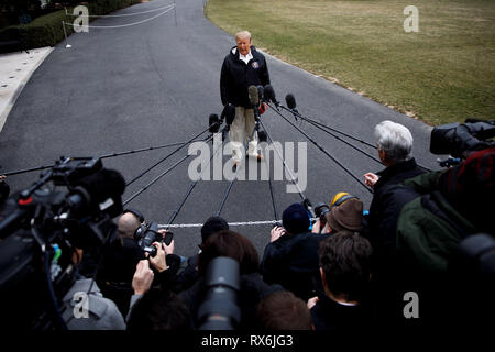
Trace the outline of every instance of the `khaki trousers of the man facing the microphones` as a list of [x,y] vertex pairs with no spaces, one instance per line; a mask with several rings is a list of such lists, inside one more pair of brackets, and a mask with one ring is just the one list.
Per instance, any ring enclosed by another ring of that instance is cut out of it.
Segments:
[[[232,158],[237,162],[242,160],[245,153],[245,143],[251,136],[255,125],[253,109],[235,107],[235,118],[230,125],[229,140],[232,146]],[[257,132],[254,132],[253,139],[248,148],[248,155],[257,157]]]

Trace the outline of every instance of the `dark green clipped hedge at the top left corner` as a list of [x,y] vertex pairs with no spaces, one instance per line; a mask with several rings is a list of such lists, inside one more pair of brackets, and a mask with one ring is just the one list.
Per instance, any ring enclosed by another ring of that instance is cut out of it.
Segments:
[[[87,4],[87,7],[89,14],[102,15],[140,2],[141,0],[97,0]],[[72,9],[67,11],[72,13]],[[74,16],[66,16],[65,10],[52,12],[29,24],[12,25],[0,31],[0,41],[22,41],[23,48],[55,46],[64,40],[62,21],[67,22],[70,19],[74,19]],[[70,25],[65,28],[67,35],[74,32]]]

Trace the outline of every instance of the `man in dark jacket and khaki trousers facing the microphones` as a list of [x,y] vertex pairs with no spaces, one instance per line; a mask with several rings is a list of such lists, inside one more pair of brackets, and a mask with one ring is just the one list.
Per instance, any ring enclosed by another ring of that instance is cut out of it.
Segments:
[[[251,45],[248,31],[235,35],[237,46],[226,56],[220,74],[220,95],[224,106],[235,107],[235,118],[230,127],[229,140],[232,160],[239,163],[244,154],[244,143],[255,127],[253,106],[249,99],[249,86],[270,85],[268,67],[263,54]],[[248,155],[261,158],[257,153],[257,133],[250,141]]]

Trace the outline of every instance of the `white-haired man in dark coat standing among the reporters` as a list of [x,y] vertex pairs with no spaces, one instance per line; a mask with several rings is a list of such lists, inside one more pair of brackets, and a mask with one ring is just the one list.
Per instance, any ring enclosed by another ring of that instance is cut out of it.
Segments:
[[397,220],[405,204],[417,195],[405,189],[395,197],[395,187],[402,182],[424,174],[411,155],[410,131],[393,121],[382,121],[375,127],[378,155],[385,169],[364,174],[366,185],[373,188],[367,224],[361,232],[373,246],[372,292],[374,300],[385,316],[395,315],[395,292],[398,260],[396,252]]

